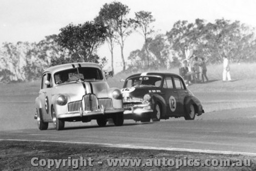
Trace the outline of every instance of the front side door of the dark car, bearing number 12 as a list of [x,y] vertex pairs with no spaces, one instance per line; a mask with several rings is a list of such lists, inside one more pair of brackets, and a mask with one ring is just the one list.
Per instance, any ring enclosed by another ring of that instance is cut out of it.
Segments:
[[166,112],[168,116],[178,116],[178,92],[174,89],[172,77],[165,77],[163,82],[163,96],[166,101]]

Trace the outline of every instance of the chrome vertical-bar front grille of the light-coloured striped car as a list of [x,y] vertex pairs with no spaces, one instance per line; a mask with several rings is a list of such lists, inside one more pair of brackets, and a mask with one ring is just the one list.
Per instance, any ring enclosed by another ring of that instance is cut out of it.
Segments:
[[104,109],[113,109],[111,98],[97,98],[95,94],[87,94],[82,100],[68,103],[68,112],[97,111],[103,106]]

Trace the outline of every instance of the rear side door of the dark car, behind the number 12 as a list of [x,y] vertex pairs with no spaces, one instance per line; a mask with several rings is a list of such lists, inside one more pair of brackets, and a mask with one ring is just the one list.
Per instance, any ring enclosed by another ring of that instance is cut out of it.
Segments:
[[177,94],[179,96],[179,103],[178,103],[178,112],[180,116],[184,116],[185,108],[184,108],[184,99],[187,95],[187,90],[184,84],[184,81],[179,77],[173,77],[174,79],[174,86]]

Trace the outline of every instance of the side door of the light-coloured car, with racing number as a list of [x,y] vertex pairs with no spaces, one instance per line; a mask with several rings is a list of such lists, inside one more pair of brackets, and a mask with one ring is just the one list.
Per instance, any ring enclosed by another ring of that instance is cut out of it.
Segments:
[[46,81],[51,81],[51,74],[45,73],[42,76],[41,89],[39,91],[39,98],[42,106],[42,118],[45,120],[51,119],[51,84],[46,84]]

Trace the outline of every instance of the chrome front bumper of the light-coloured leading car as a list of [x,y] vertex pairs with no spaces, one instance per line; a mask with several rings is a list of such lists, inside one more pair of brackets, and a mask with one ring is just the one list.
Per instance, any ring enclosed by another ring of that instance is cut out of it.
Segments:
[[57,118],[71,118],[71,117],[83,117],[83,116],[93,116],[93,115],[104,115],[104,114],[112,114],[112,113],[120,113],[123,112],[123,108],[119,109],[108,109],[108,110],[98,110],[98,111],[79,111],[79,112],[70,112],[65,114],[57,115]]

